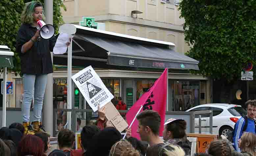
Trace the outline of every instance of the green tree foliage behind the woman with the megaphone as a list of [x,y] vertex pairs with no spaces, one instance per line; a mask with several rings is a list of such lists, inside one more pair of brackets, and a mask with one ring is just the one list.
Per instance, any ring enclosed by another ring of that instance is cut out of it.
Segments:
[[[15,53],[16,35],[21,26],[21,13],[25,3],[32,0],[0,0],[0,45],[7,45],[14,52],[14,71],[20,73],[20,58]],[[39,0],[44,3],[44,0]],[[53,25],[58,31],[61,24],[64,23],[61,14],[61,8],[66,10],[62,0],[53,0]]]

